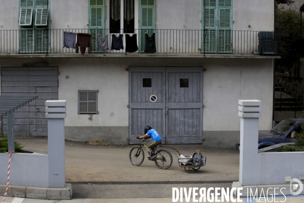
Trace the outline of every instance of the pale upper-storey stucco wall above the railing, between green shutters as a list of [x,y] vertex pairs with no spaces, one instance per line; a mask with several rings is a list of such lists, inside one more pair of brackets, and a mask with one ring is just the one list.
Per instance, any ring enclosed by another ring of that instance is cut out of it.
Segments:
[[[2,1],[1,4],[0,29],[19,29],[19,1]],[[88,28],[88,5],[87,0],[79,0],[77,4],[73,0],[52,0],[50,4],[51,28]],[[201,29],[201,16],[201,0],[156,1],[157,29]],[[233,0],[233,20],[234,30],[272,31],[274,29],[274,2]],[[248,25],[251,25],[251,28]]]

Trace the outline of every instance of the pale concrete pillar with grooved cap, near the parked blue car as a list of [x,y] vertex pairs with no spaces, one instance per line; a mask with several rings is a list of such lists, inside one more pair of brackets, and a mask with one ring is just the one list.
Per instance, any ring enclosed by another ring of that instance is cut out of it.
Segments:
[[[241,117],[240,177],[242,185],[255,185],[258,177],[258,118],[261,117],[261,101],[239,100]],[[245,150],[244,150],[245,149]]]

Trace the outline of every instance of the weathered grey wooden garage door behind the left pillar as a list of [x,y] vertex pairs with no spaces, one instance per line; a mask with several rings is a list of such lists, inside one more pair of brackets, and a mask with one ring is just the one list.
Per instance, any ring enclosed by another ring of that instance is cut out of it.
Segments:
[[[48,136],[45,101],[58,99],[58,67],[2,67],[2,95],[39,95],[14,113],[15,136]],[[3,119],[7,136],[7,119]]]

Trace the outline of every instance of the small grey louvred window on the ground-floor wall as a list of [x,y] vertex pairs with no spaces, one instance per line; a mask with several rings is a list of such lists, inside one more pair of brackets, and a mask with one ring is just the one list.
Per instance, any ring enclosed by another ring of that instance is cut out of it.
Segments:
[[78,114],[98,114],[98,90],[78,91]]

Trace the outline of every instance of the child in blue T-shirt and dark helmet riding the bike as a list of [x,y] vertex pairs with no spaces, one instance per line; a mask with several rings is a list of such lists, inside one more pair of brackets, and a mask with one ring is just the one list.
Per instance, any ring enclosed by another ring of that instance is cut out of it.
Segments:
[[145,134],[143,136],[137,136],[136,138],[142,139],[146,138],[147,136],[151,136],[152,141],[147,144],[146,149],[151,154],[151,159],[153,159],[157,156],[157,154],[154,153],[154,148],[162,142],[162,137],[155,129],[152,129],[149,125],[144,127],[144,133]]

